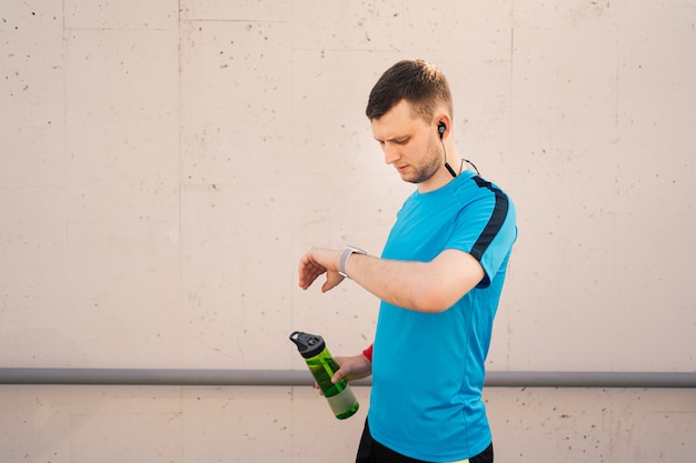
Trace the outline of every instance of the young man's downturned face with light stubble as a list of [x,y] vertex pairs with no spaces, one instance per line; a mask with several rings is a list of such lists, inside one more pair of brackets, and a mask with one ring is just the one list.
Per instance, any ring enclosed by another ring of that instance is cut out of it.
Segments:
[[[406,100],[399,101],[379,119],[372,119],[372,135],[401,179],[424,183],[443,167],[444,158],[435,124],[419,118]],[[419,185],[420,188],[420,185]]]

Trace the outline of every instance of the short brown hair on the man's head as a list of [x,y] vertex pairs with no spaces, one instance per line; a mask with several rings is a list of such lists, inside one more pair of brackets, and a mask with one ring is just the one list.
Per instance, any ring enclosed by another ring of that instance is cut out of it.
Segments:
[[420,59],[399,61],[385,71],[370,92],[365,114],[370,121],[379,119],[401,100],[411,103],[426,122],[430,122],[438,104],[454,115],[447,79],[436,66]]

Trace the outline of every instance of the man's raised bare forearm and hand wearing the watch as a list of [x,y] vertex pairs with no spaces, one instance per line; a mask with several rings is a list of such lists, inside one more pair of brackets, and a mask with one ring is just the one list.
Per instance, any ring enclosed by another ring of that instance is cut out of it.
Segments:
[[[338,273],[340,251],[311,249],[300,260],[299,285],[307,289],[326,273],[326,292],[344,278]],[[445,250],[430,262],[407,262],[352,254],[347,273],[356,283],[390,304],[417,312],[449,309],[484,278],[484,269],[470,254]]]

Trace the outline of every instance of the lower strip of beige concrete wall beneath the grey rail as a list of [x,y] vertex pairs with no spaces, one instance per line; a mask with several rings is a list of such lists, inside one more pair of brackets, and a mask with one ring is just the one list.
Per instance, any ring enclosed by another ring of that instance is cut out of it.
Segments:
[[[355,387],[362,405],[369,389]],[[693,461],[693,390],[486,391],[497,462]],[[0,387],[3,462],[355,462],[311,387]]]

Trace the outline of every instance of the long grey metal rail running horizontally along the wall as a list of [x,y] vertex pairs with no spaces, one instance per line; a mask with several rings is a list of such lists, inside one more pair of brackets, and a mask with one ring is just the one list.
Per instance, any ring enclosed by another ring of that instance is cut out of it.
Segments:
[[[311,385],[301,370],[148,370],[0,368],[0,384],[14,385],[178,385],[296,386]],[[370,380],[355,381],[370,385]],[[514,372],[489,371],[488,387],[696,387],[686,372]]]

